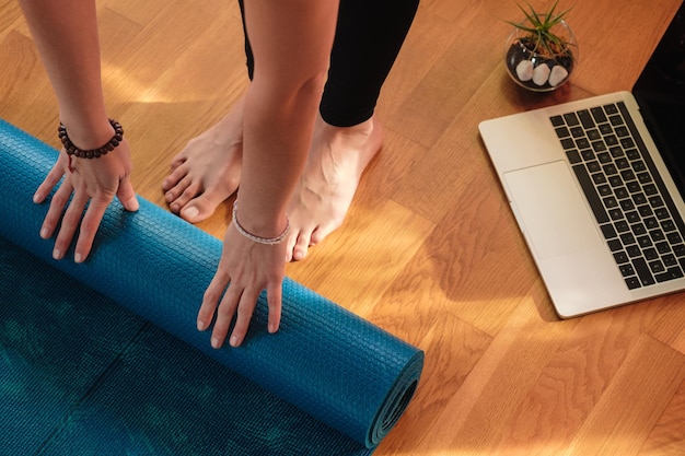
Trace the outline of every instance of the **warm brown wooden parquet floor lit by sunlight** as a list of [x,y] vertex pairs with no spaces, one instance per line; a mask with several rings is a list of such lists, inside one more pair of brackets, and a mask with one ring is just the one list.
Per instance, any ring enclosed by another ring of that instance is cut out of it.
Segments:
[[[171,157],[246,86],[234,3],[98,0],[111,115],[136,190],[160,206]],[[685,454],[685,295],[559,320],[478,136],[489,117],[630,89],[677,9],[572,3],[580,66],[539,95],[504,74],[514,0],[423,0],[379,105],[382,153],[344,227],[288,266],[426,351],[379,456]],[[0,1],[0,117],[57,145],[55,97],[12,0]],[[228,217],[199,226],[221,236]]]

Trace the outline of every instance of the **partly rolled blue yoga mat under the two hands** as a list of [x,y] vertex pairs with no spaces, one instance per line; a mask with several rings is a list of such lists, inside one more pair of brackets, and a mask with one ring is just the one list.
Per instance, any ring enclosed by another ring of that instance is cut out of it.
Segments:
[[422,351],[289,279],[278,334],[263,293],[243,347],[211,349],[220,241],[140,198],[86,262],[53,260],[32,197],[56,156],[0,120],[0,455],[373,453]]

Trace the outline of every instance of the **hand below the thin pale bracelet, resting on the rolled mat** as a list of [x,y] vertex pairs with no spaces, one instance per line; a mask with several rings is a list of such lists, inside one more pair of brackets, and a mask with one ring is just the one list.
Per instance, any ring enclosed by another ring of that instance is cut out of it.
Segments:
[[241,235],[231,223],[223,239],[219,268],[205,292],[197,317],[197,328],[204,331],[217,314],[211,335],[213,348],[223,346],[234,315],[235,326],[229,343],[239,347],[243,342],[257,299],[264,289],[269,306],[268,331],[278,330],[285,268],[285,242],[275,245],[255,243]]

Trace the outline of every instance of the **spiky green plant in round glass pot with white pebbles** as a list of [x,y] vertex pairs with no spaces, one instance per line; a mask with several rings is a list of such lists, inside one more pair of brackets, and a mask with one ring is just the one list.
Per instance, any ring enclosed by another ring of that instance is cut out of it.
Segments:
[[570,9],[558,13],[558,0],[545,13],[526,5],[519,4],[522,22],[507,21],[514,27],[506,46],[507,70],[525,89],[552,91],[568,81],[578,61],[578,44],[566,23]]

